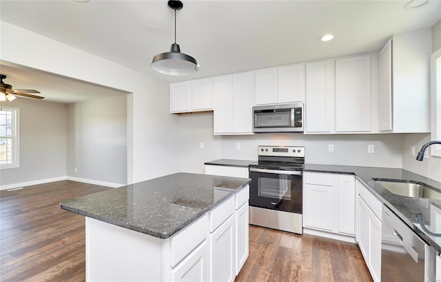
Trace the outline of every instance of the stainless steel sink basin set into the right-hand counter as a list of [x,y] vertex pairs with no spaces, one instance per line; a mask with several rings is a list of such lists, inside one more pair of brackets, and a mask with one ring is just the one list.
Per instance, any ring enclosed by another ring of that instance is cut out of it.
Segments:
[[418,183],[397,182],[397,181],[376,181],[376,182],[382,185],[382,187],[388,190],[389,192],[400,196],[441,200],[441,192],[429,188],[427,186],[420,185]]

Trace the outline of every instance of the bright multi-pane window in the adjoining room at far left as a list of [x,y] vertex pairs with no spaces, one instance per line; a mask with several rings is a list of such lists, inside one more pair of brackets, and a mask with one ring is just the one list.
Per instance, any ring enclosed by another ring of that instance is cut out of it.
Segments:
[[19,109],[0,110],[0,168],[19,167]]

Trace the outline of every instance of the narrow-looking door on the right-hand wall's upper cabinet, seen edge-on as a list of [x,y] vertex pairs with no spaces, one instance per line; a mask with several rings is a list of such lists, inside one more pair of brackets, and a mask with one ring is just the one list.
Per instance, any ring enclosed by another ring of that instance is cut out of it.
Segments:
[[380,131],[392,130],[392,39],[380,51]]

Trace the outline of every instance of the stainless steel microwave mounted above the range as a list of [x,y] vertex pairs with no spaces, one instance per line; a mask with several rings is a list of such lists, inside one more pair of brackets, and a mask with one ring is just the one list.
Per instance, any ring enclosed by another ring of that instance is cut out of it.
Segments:
[[253,132],[303,132],[303,103],[253,107]]

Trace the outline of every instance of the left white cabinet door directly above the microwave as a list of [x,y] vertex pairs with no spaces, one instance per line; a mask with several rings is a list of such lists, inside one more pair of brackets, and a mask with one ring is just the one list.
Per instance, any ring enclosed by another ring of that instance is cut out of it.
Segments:
[[277,103],[277,68],[256,70],[256,88],[254,101],[256,105]]

